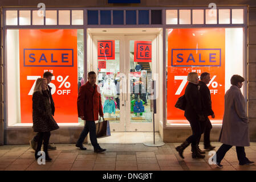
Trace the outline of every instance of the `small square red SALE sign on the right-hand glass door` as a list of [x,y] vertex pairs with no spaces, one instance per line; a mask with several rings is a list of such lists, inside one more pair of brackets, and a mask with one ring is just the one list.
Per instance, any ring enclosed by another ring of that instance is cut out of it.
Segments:
[[151,41],[136,40],[134,42],[134,61],[135,62],[151,62],[152,61]]

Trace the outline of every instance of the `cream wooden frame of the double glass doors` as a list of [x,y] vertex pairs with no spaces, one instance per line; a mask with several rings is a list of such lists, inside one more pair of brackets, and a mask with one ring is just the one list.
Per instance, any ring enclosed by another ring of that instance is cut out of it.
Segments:
[[[129,73],[129,40],[152,40],[152,73],[159,73],[159,34],[150,34],[150,35],[112,35],[112,34],[88,34],[87,35],[87,68],[88,71],[94,71],[97,73],[97,40],[119,40],[119,50],[120,50],[120,73],[124,73],[125,77],[122,79],[120,77],[120,89],[123,85],[124,90],[128,95],[129,89],[127,89],[127,78]],[[95,52],[96,51],[96,52]],[[124,64],[122,64],[124,63]],[[87,72],[88,72],[87,71]],[[157,87],[157,92],[159,91],[159,76],[154,77]],[[129,79],[128,79],[129,81]],[[129,82],[128,82],[129,85]],[[131,123],[131,102],[127,102],[127,94],[120,93],[120,123],[111,123],[111,131],[153,131],[153,121],[151,123]],[[160,98],[158,92],[158,98]],[[161,94],[160,94],[161,95]],[[159,130],[159,99],[157,99],[157,114],[155,114],[155,131]],[[127,108],[125,110],[125,107]],[[152,117],[153,119],[153,117]],[[136,130],[137,129],[137,130]]]

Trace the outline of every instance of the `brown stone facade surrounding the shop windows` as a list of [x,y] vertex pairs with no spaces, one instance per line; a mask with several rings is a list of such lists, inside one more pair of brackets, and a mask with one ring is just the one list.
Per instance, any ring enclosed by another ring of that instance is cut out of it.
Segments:
[[[254,0],[232,0],[232,1],[222,1],[216,0],[212,1],[202,1],[202,0],[184,0],[184,1],[172,1],[172,0],[141,0],[140,3],[108,3],[108,0],[97,0],[97,1],[80,1],[80,0],[63,0],[63,1],[38,1],[38,0],[0,0],[1,6],[1,27],[3,27],[3,9],[6,7],[33,7],[35,8],[38,3],[43,2],[47,7],[99,7],[99,9],[104,9],[107,7],[154,7],[155,9],[162,7],[208,7],[209,3],[216,3],[217,6],[247,6],[247,27],[245,31],[247,32],[247,77],[245,86],[247,88],[247,115],[249,117],[249,128],[250,128],[250,140],[256,141],[256,1]],[[31,127],[18,127],[15,129],[9,129],[5,126],[4,120],[4,108],[6,107],[4,102],[4,85],[3,81],[5,77],[4,74],[4,63],[3,60],[3,32],[1,28],[1,69],[0,69],[0,145],[3,144],[25,144],[28,143],[29,139],[34,136]],[[166,85],[165,85],[166,86]],[[58,131],[52,132],[51,142],[53,143],[75,143],[76,139],[79,137],[82,127],[61,127]],[[173,128],[173,127],[163,127],[159,126],[159,132],[161,138],[164,142],[181,142],[191,133],[189,127],[186,128]],[[211,133],[212,140],[218,140],[220,135],[220,127],[214,127]]]

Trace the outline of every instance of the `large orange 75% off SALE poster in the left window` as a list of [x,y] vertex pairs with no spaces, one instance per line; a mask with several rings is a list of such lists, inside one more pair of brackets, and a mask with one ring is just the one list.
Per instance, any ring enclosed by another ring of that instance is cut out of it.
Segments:
[[50,71],[58,123],[78,123],[77,30],[19,30],[21,122],[32,123],[35,81]]

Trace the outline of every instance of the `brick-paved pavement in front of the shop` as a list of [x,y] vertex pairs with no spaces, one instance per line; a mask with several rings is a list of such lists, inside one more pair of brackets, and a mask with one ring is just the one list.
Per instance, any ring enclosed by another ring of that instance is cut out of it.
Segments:
[[[135,144],[100,144],[107,151],[96,154],[91,144],[85,144],[86,151],[81,151],[75,144],[56,144],[57,150],[49,151],[51,162],[39,165],[34,159],[34,151],[29,145],[0,146],[0,171],[256,171],[253,166],[239,166],[235,147],[226,154],[219,169],[208,163],[210,155],[205,159],[192,159],[190,147],[184,151],[185,159],[181,159],[175,147],[180,143],[166,143],[162,147],[147,147],[142,143]],[[220,147],[220,142],[212,142]],[[202,143],[200,148],[203,149]],[[256,162],[256,142],[245,147],[246,156]]]

